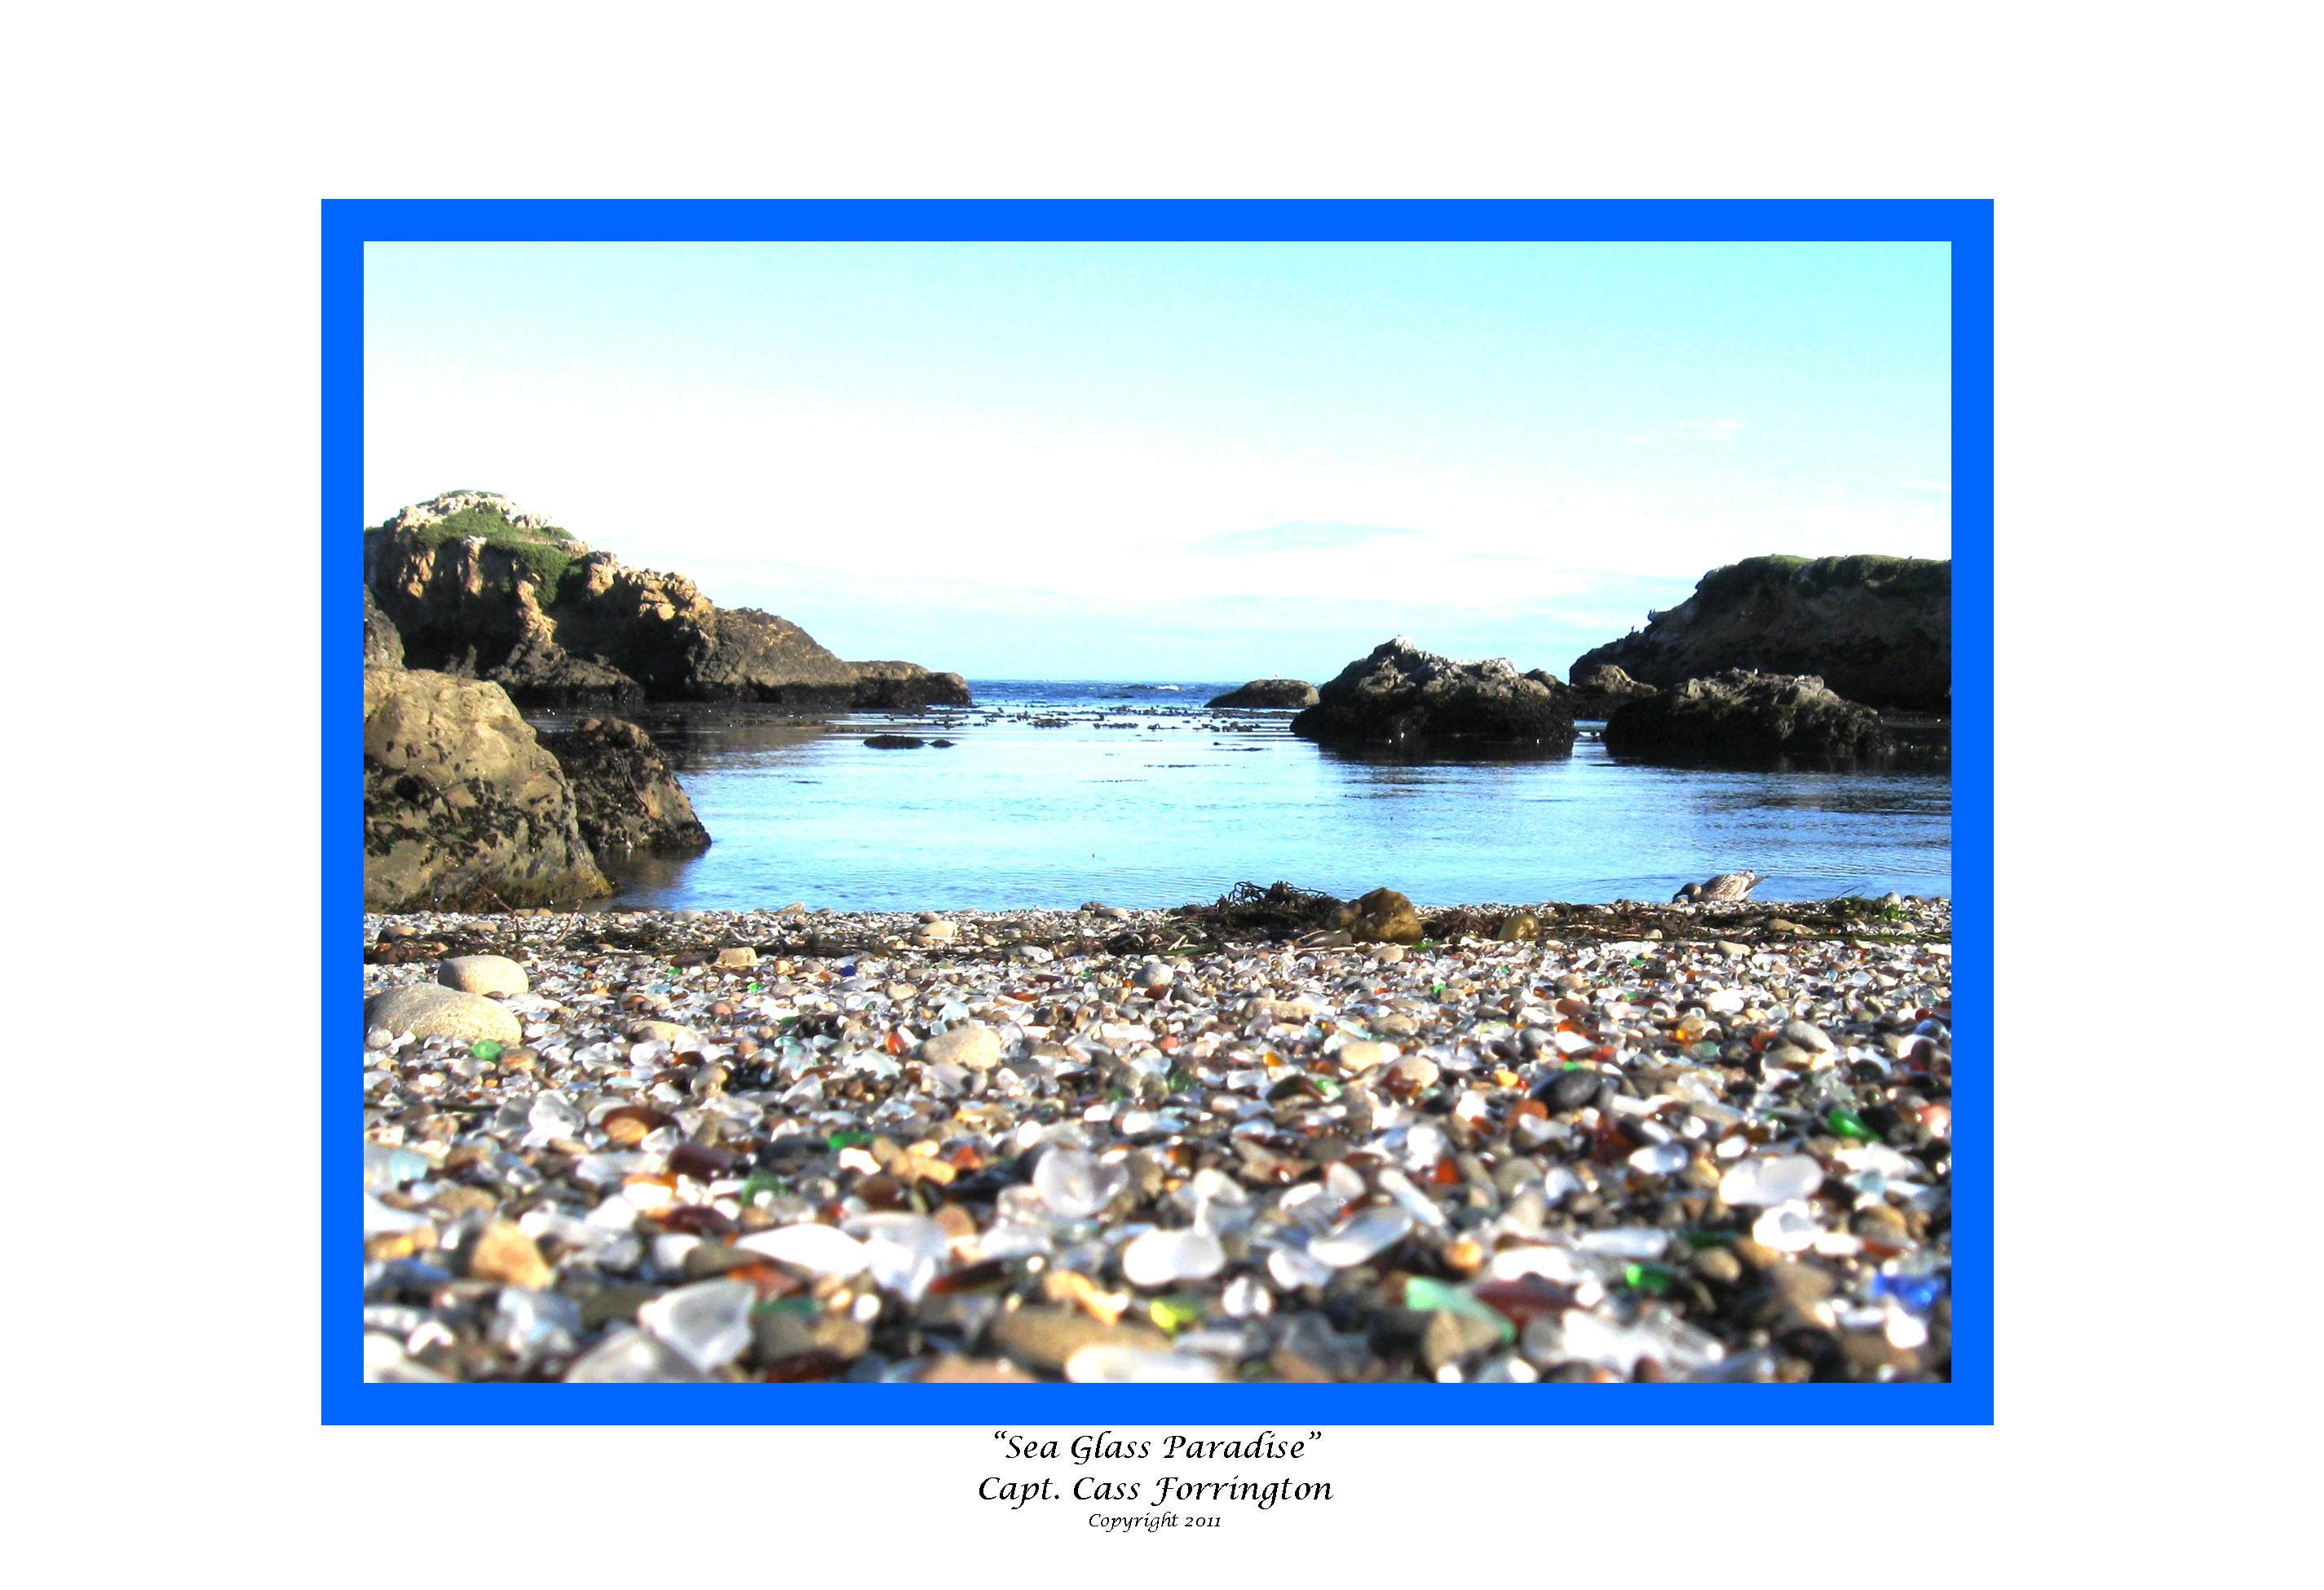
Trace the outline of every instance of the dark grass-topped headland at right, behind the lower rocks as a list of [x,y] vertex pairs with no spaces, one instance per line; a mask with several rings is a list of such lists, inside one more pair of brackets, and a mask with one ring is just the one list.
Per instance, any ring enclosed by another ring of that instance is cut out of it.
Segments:
[[1815,674],[1852,702],[1952,709],[1952,563],[1931,558],[1745,558],[1643,630],[1587,651],[1671,688],[1729,667]]

